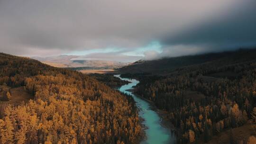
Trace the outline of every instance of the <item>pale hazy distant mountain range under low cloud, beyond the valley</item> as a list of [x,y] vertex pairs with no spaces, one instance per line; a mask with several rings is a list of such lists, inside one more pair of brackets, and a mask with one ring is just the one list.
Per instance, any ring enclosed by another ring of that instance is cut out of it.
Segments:
[[77,67],[86,67],[91,69],[115,69],[120,68],[129,63],[117,62],[117,61],[100,61],[100,60],[83,60],[79,58],[78,55],[59,55],[59,56],[50,56],[50,57],[31,57],[42,63],[46,63],[55,67],[62,68],[77,68]]

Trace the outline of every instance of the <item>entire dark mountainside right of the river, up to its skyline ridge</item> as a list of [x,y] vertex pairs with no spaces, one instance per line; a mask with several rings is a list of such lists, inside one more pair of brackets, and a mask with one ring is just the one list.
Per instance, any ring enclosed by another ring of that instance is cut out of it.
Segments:
[[140,81],[134,92],[166,112],[178,144],[255,138],[256,49],[140,61],[119,71],[131,72],[121,77]]

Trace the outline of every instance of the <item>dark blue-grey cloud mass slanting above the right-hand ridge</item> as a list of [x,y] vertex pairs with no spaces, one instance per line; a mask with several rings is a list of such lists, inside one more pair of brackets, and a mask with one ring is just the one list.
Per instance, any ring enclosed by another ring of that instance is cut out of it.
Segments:
[[179,34],[162,37],[165,56],[196,54],[256,46],[256,1],[243,0],[238,8]]

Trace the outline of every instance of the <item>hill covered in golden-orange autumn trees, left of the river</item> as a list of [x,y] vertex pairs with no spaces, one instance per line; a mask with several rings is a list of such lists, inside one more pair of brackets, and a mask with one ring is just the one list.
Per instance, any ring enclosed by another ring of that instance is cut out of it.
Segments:
[[[33,99],[9,104],[17,88]],[[133,144],[140,135],[133,99],[33,59],[0,53],[0,97],[9,100],[0,101],[0,144]]]

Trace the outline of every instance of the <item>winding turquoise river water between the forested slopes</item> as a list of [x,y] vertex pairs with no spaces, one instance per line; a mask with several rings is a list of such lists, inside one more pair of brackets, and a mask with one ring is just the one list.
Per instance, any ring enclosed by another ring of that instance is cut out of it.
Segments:
[[141,144],[175,144],[175,136],[171,133],[171,130],[163,127],[161,122],[161,117],[154,111],[151,110],[151,105],[146,100],[141,99],[130,92],[130,89],[133,89],[133,86],[136,86],[139,81],[135,79],[121,78],[120,75],[114,75],[115,77],[120,78],[121,80],[130,81],[131,83],[126,84],[118,88],[119,91],[131,95],[137,105],[139,110],[139,116],[142,117],[145,121],[143,124],[147,127],[146,139],[141,142]]

